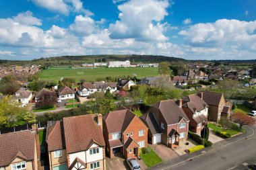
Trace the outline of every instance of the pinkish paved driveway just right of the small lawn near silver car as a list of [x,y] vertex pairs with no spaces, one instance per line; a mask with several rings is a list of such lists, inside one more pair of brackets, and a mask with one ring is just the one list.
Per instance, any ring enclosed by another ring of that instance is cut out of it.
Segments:
[[168,148],[164,144],[148,144],[156,154],[164,161],[179,157],[171,148]]

